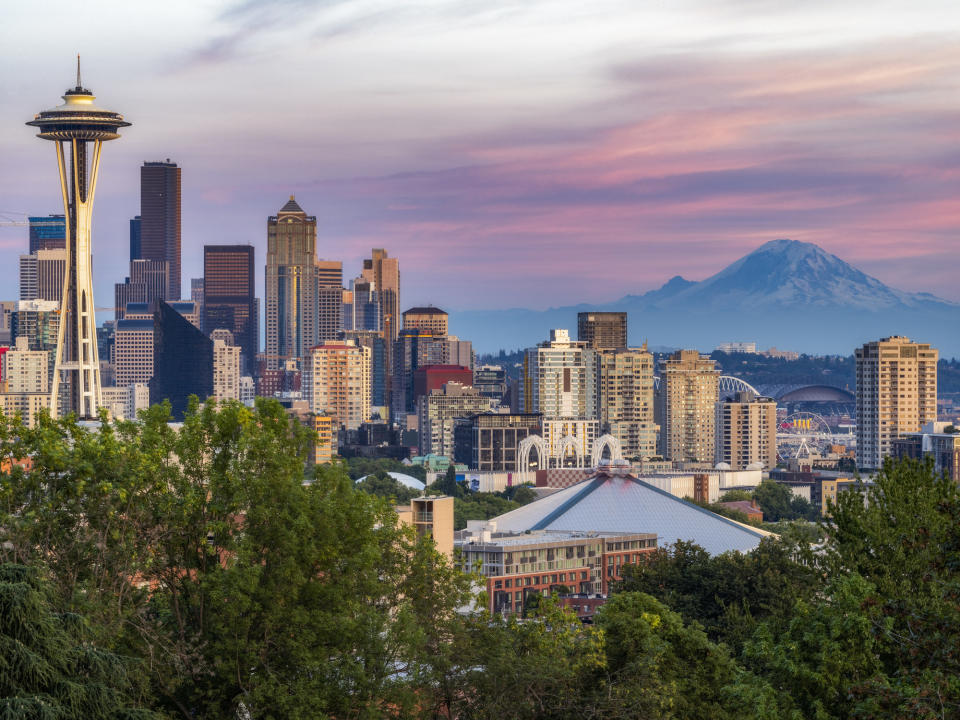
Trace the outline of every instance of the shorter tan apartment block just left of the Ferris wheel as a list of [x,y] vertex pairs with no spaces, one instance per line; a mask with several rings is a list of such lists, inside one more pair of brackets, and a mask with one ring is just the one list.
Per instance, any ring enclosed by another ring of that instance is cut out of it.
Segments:
[[731,470],[777,466],[777,402],[751,392],[717,403],[714,461]]

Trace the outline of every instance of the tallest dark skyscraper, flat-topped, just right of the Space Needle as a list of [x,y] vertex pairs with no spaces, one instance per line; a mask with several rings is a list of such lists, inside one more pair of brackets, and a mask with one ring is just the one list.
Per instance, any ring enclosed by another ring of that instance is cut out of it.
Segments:
[[180,168],[145,162],[140,168],[140,257],[168,263],[167,300],[180,299]]

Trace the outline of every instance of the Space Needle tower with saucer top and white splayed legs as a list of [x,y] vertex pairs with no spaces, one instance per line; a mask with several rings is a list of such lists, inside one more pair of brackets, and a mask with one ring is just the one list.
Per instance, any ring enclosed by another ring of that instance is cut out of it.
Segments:
[[80,419],[96,418],[100,405],[100,362],[90,265],[90,222],[100,149],[107,140],[119,137],[120,128],[130,125],[119,113],[98,108],[93,104],[95,99],[80,82],[78,57],[77,85],[64,93],[63,105],[44,110],[27,123],[39,128],[37,137],[56,143],[66,216],[67,266],[50,412],[56,416],[63,398],[63,407]]

